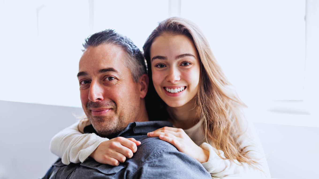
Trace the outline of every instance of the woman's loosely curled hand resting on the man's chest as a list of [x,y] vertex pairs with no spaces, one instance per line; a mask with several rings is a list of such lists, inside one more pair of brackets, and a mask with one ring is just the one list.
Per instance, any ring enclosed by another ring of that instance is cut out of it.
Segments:
[[90,157],[99,163],[117,166],[126,158],[132,158],[140,144],[141,142],[134,138],[116,137],[101,142]]

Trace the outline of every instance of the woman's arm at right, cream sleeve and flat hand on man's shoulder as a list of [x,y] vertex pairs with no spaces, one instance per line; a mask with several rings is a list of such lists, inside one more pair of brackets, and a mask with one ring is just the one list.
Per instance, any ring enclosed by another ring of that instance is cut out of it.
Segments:
[[[241,144],[241,147],[248,146],[245,148],[246,151],[252,150],[249,151],[248,154],[253,158],[253,160],[259,162],[257,167],[263,171],[258,170],[247,163],[240,164],[238,161],[234,160],[237,163],[236,164],[230,159],[222,159],[217,153],[219,152],[221,157],[225,158],[224,152],[221,150],[216,150],[207,143],[203,143],[200,145],[200,147],[198,147],[190,139],[190,137],[194,136],[188,136],[182,129],[163,127],[153,132],[149,132],[147,135],[150,137],[159,137],[159,139],[174,145],[180,152],[188,154],[197,159],[197,161],[201,162],[204,168],[211,173],[212,177],[270,177],[263,148],[261,147],[259,138],[254,130],[253,125],[250,123],[247,124],[244,121],[241,121],[241,125],[248,125],[248,127],[244,134],[239,137],[238,141]],[[194,133],[194,135],[198,135],[198,133],[200,134],[199,130],[201,130],[201,128],[198,128],[198,132]]]

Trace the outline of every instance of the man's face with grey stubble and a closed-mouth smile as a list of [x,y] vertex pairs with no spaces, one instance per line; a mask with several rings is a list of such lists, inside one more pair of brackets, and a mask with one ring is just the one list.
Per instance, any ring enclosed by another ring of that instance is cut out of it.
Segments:
[[139,112],[138,84],[124,66],[126,58],[121,47],[101,44],[86,48],[79,62],[82,108],[102,136],[122,131]]

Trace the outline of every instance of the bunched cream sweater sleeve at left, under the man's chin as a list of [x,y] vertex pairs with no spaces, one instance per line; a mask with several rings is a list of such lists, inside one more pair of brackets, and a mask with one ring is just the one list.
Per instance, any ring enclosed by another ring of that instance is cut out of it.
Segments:
[[101,142],[108,140],[95,133],[81,133],[78,124],[63,129],[51,139],[50,151],[60,157],[63,164],[84,162]]

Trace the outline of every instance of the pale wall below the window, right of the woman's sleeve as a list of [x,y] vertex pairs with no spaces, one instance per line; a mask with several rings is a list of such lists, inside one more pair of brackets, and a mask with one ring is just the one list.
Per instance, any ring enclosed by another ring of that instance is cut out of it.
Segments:
[[319,128],[255,123],[272,178],[317,178]]

